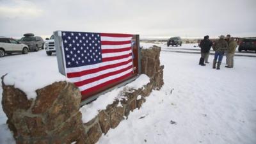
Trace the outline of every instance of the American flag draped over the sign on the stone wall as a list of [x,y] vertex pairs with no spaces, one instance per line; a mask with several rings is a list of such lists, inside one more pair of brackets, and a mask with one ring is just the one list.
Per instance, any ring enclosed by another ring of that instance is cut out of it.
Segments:
[[132,35],[62,31],[67,77],[82,95],[122,81],[132,72]]

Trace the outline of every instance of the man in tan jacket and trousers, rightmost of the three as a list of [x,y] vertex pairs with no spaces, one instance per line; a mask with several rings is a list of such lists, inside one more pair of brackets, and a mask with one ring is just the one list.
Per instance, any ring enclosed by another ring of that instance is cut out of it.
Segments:
[[228,42],[228,49],[227,49],[227,68],[234,67],[234,54],[236,51],[237,43],[234,41],[234,38],[230,38]]

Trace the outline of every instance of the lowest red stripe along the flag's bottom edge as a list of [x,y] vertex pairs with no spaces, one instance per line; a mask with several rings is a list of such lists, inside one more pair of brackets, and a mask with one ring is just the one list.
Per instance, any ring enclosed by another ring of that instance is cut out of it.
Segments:
[[111,83],[115,83],[116,81],[121,81],[122,79],[125,79],[126,77],[129,77],[129,76],[131,76],[131,74],[132,74],[132,72],[130,72],[128,74],[125,74],[124,76],[121,76],[121,77],[116,77],[116,79],[112,79],[110,81],[106,81],[105,83],[101,83],[101,84],[99,84],[97,86],[94,86],[92,88],[88,88],[87,90],[83,90],[81,92],[81,94],[82,95],[86,95],[86,93],[91,93],[91,92],[93,92],[95,90],[99,90],[99,88],[102,88],[104,86],[108,86]]

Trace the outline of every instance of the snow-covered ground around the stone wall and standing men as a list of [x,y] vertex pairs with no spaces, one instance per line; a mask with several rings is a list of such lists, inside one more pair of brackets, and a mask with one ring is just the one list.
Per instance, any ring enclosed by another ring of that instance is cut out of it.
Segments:
[[[191,44],[179,48],[186,47],[193,49]],[[198,65],[199,58],[200,54],[162,51],[163,88],[153,91],[140,110],[98,143],[255,144],[256,58],[235,56],[234,68],[223,63],[221,70],[211,68],[213,56],[205,67]],[[39,51],[0,59],[1,76],[15,70],[58,72],[56,56]],[[0,143],[14,143],[5,122],[0,109]]]

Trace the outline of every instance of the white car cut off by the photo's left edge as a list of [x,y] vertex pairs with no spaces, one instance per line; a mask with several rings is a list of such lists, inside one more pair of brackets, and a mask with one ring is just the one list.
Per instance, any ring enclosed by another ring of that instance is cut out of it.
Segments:
[[13,38],[0,37],[0,57],[5,54],[12,54],[13,52],[22,52],[22,54],[28,54],[28,45],[21,44]]

